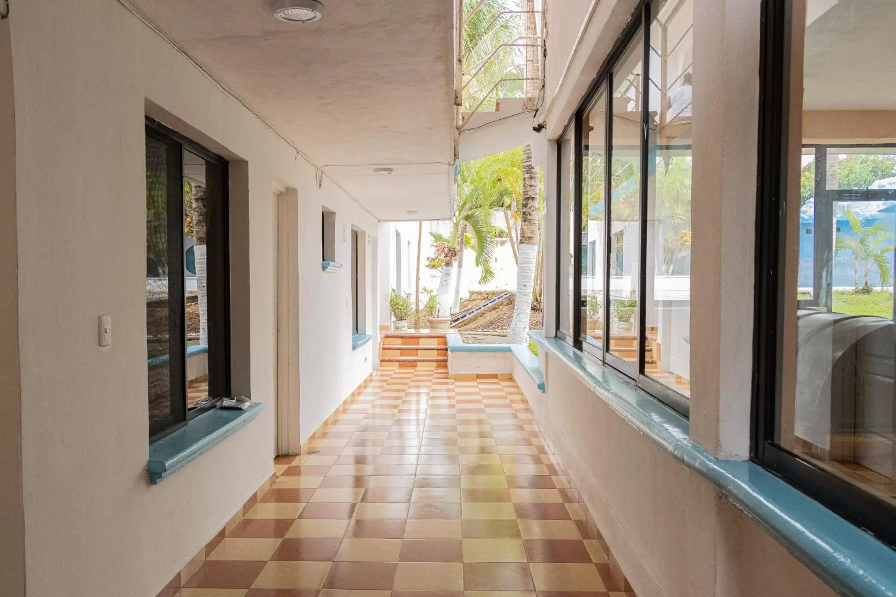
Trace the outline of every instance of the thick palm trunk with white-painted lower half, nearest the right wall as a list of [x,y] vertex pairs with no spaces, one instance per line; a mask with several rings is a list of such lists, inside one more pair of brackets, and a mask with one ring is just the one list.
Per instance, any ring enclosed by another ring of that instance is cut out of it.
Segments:
[[520,264],[516,269],[516,303],[513,323],[507,334],[510,344],[529,343],[529,318],[532,310],[532,286],[538,254],[538,175],[532,166],[532,148],[522,148],[522,205],[520,226]]

